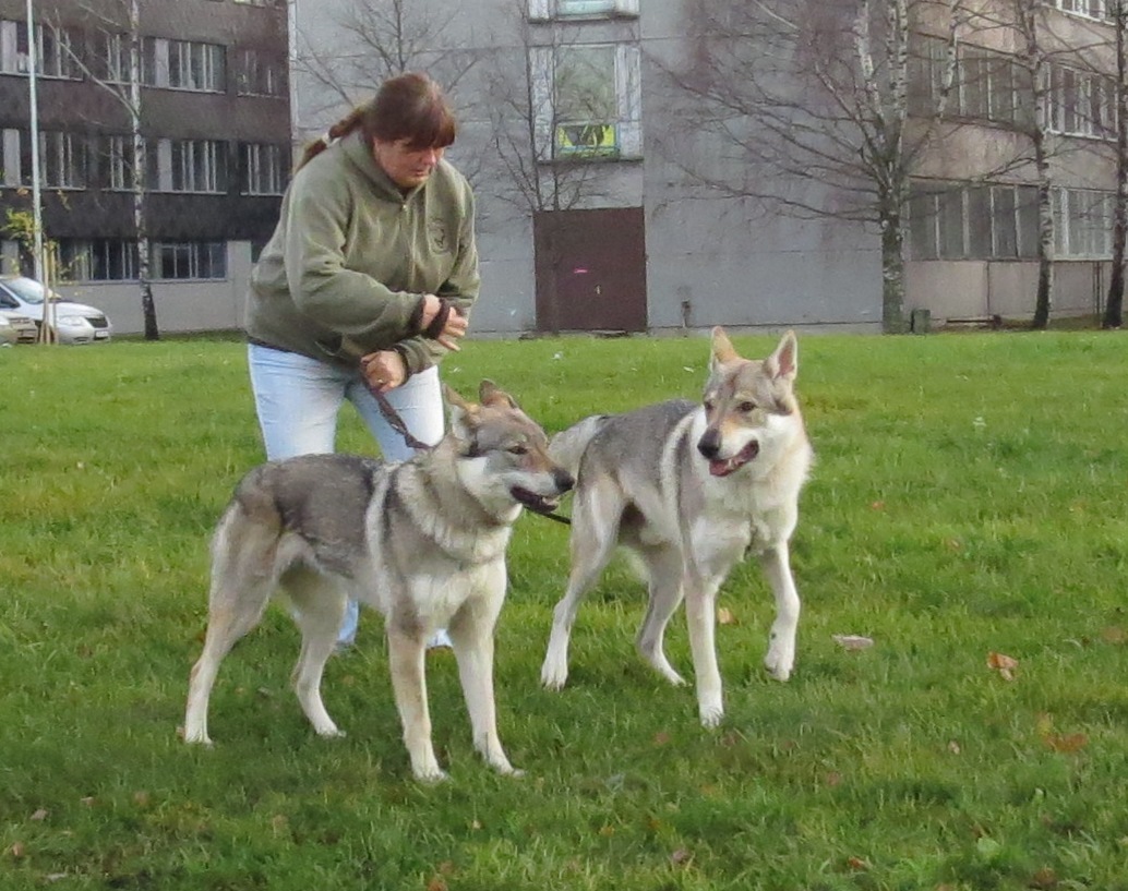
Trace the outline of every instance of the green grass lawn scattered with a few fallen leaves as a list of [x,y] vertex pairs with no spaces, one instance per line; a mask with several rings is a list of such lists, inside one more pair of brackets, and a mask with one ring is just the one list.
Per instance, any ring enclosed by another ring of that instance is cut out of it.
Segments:
[[[760,668],[770,594],[740,567],[716,732],[634,654],[620,563],[569,687],[540,689],[567,532],[523,518],[497,698],[528,773],[479,762],[435,652],[435,787],[411,779],[374,616],[326,672],[346,739],[301,716],[277,609],[223,664],[215,747],[177,739],[211,526],[261,460],[244,347],[0,351],[0,888],[1128,889],[1126,336],[802,337],[796,670]],[[558,430],[696,397],[706,350],[473,342],[444,378],[490,377]],[[372,450],[351,415],[340,446]],[[680,617],[669,652],[689,672]]]

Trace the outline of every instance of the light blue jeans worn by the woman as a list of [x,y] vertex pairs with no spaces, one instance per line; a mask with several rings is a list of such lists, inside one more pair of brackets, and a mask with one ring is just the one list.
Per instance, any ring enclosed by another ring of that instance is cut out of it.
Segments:
[[[247,363],[268,460],[335,451],[337,415],[345,399],[372,432],[385,460],[402,461],[415,453],[380,414],[359,369],[347,371],[258,344],[248,344]],[[413,436],[431,444],[442,439],[444,414],[438,368],[412,374],[402,387],[388,390],[387,397]],[[338,643],[353,642],[359,616],[360,607],[350,600]]]

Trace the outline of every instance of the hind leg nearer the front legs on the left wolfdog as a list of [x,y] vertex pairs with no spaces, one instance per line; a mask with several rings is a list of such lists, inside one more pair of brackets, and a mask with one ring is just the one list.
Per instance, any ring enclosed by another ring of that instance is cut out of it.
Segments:
[[293,689],[301,711],[319,736],[343,736],[321,702],[321,674],[336,644],[347,596],[333,580],[305,567],[291,571],[282,584],[301,629],[301,652],[293,668]]

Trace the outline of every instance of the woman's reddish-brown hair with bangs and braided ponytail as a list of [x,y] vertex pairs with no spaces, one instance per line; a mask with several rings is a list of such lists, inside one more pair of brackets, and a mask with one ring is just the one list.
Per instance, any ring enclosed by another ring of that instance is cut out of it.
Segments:
[[386,80],[370,102],[358,105],[328,132],[306,145],[294,170],[325,151],[333,140],[356,129],[369,142],[406,139],[413,149],[443,149],[455,141],[458,127],[438,83],[420,72],[399,74]]

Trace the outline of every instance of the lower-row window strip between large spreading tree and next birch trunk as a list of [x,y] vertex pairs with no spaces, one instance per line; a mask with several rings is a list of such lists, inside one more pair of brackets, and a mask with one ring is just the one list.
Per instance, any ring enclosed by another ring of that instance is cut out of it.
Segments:
[[1038,188],[914,185],[913,259],[1030,259],[1038,256]]

